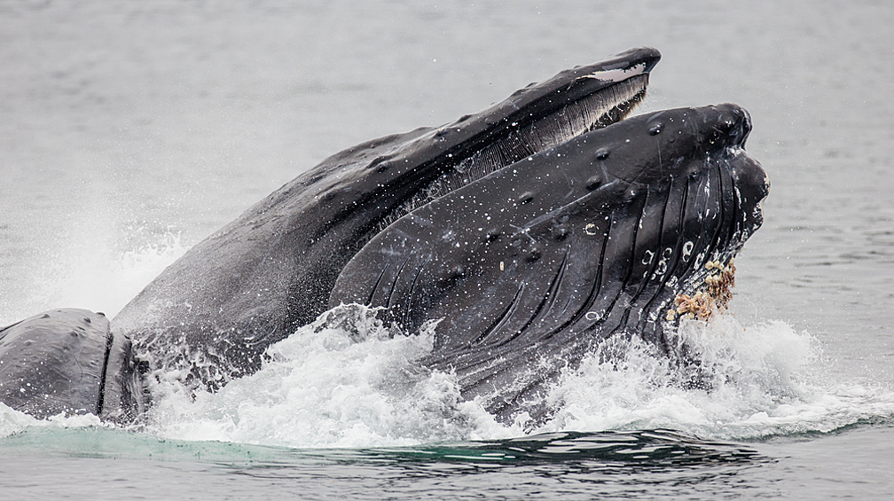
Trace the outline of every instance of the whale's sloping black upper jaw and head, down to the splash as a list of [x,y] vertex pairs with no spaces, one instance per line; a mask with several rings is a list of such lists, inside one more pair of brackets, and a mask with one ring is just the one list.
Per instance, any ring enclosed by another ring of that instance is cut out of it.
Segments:
[[[155,365],[204,359],[193,376],[211,388],[255,372],[266,347],[325,311],[342,268],[402,215],[401,205],[487,146],[618,87],[584,75],[638,68],[642,74],[630,76],[645,92],[659,58],[654,49],[632,49],[562,71],[443,127],[334,154],[191,248],[118,313],[113,330],[133,338],[139,351],[166,357]],[[619,113],[631,105],[620,104]],[[502,164],[532,153],[521,144],[502,152]]]

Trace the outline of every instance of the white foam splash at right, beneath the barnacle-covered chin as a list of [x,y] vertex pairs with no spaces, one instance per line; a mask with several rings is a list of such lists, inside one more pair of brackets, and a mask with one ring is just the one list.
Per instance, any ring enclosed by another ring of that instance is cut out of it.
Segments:
[[671,428],[744,439],[894,417],[894,393],[832,382],[816,339],[783,322],[745,327],[723,314],[687,321],[679,338],[702,361],[703,388],[680,384],[686,372],[632,341],[620,361],[591,356],[564,374],[550,395],[559,411],[543,430]]

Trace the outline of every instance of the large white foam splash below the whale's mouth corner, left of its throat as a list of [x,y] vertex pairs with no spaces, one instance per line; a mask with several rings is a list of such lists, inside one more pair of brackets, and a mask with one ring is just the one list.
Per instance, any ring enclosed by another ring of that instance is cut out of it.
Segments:
[[433,328],[395,335],[371,309],[335,308],[270,347],[259,372],[215,394],[188,391],[176,373],[153,383],[150,428],[166,438],[286,447],[509,436],[462,400],[451,374],[414,363],[431,351]]

